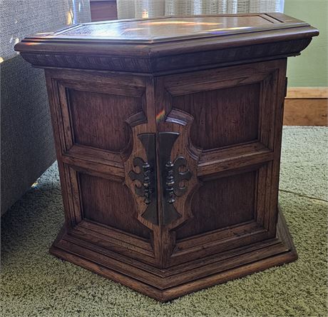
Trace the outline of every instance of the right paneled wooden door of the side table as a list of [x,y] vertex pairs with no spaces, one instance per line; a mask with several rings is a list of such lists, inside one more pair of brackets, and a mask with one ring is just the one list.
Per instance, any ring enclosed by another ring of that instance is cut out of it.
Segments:
[[159,159],[164,266],[275,236],[285,66],[156,79],[158,134],[175,134]]

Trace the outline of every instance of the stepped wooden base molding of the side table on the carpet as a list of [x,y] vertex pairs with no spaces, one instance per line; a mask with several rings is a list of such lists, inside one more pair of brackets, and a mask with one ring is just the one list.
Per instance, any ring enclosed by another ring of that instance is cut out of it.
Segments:
[[276,238],[171,268],[159,269],[140,261],[129,261],[118,253],[73,237],[65,228],[58,234],[50,253],[158,301],[170,301],[202,288],[297,259],[297,252],[280,208]]

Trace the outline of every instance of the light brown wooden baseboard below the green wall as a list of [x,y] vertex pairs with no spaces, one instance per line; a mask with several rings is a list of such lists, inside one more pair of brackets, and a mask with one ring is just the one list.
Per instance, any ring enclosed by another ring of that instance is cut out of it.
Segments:
[[328,87],[291,87],[285,98],[285,126],[328,126]]

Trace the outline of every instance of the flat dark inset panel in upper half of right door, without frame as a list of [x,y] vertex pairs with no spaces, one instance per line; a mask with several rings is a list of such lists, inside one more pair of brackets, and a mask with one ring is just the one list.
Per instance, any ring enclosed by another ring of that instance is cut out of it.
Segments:
[[193,116],[191,140],[203,150],[258,138],[258,83],[174,96],[172,104]]

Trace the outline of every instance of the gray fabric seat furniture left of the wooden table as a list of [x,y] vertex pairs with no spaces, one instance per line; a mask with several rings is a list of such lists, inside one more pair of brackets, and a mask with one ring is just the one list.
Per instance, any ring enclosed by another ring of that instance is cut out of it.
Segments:
[[43,70],[32,68],[14,45],[91,15],[88,0],[0,2],[2,215],[56,159]]

